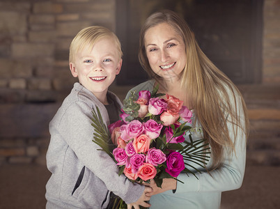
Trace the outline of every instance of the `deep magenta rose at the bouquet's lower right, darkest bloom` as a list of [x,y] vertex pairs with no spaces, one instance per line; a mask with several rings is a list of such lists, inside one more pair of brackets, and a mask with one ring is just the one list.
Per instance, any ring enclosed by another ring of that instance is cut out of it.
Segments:
[[165,171],[173,177],[177,177],[182,170],[185,169],[185,163],[182,155],[178,152],[172,152],[168,155],[166,160],[167,168]]

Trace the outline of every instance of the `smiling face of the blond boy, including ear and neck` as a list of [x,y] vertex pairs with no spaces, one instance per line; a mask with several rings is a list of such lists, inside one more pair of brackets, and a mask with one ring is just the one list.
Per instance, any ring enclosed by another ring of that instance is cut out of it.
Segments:
[[107,91],[120,72],[122,60],[110,36],[100,38],[92,49],[84,47],[75,54],[70,70],[100,102],[107,104]]

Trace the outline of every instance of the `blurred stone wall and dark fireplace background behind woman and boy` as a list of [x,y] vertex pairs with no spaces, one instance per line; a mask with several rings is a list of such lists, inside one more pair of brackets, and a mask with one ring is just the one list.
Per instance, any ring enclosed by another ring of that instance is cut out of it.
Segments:
[[45,208],[48,124],[77,82],[72,38],[92,25],[117,34],[123,68],[110,89],[123,100],[148,78],[141,24],[164,8],[187,20],[249,108],[244,184],[221,208],[280,208],[280,0],[0,0],[0,208]]

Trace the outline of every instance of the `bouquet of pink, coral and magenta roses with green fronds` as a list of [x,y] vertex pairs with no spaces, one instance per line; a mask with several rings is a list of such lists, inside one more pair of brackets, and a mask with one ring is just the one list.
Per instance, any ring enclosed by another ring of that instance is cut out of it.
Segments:
[[[192,140],[186,125],[192,123],[192,111],[183,106],[183,102],[172,95],[157,93],[157,88],[132,92],[130,98],[124,100],[122,120],[109,125],[102,123],[100,112],[93,110],[93,141],[106,151],[120,167],[122,173],[132,181],[148,182],[154,179],[161,187],[163,178],[175,178],[181,173],[199,172],[194,167],[205,167],[208,162],[209,146],[205,139]],[[189,135],[185,141],[184,135]],[[110,150],[110,139],[118,147]],[[193,164],[194,163],[194,164]]]

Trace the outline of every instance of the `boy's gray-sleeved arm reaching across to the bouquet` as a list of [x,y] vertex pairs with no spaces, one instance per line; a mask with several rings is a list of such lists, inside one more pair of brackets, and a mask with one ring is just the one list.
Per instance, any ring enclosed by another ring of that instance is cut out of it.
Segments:
[[[102,109],[100,111],[102,114]],[[88,104],[72,104],[59,125],[63,139],[109,191],[120,196],[126,203],[136,202],[143,194],[144,186],[133,184],[124,175],[118,176],[119,169],[114,160],[104,151],[98,150],[100,147],[92,141],[94,128],[91,118],[92,109]]]

